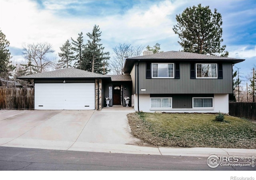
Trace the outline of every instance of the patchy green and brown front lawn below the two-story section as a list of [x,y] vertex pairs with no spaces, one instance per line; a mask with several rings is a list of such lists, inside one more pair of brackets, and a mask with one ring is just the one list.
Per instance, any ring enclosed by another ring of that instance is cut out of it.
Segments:
[[132,134],[147,144],[172,147],[256,149],[256,123],[216,114],[131,113]]

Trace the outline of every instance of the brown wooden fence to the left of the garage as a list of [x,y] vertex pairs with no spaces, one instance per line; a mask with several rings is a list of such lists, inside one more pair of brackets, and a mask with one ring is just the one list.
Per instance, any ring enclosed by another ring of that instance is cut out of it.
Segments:
[[34,88],[0,88],[1,109],[34,109]]

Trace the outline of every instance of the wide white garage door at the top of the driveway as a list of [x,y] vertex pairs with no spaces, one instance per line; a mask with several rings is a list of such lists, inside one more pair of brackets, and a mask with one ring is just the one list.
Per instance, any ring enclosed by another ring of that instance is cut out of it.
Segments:
[[95,109],[95,84],[35,83],[35,109]]

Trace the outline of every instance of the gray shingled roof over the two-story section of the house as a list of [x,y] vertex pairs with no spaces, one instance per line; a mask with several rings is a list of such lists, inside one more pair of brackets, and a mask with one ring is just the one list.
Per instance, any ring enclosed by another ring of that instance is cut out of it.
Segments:
[[228,58],[224,56],[211,56],[183,51],[168,51],[134,58],[126,58],[124,62],[124,72],[129,72],[136,60],[173,60],[173,61],[226,61],[236,64],[244,59]]

